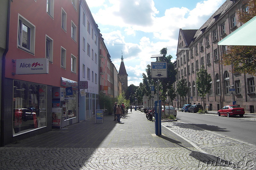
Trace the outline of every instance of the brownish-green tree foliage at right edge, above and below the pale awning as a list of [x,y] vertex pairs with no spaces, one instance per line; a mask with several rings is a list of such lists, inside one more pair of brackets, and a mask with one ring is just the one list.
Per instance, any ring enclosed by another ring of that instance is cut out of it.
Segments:
[[[256,0],[244,0],[242,11],[237,10],[238,21],[246,23],[256,16]],[[222,55],[223,65],[233,64],[233,73],[248,73],[256,76],[256,46],[228,46],[229,50]]]

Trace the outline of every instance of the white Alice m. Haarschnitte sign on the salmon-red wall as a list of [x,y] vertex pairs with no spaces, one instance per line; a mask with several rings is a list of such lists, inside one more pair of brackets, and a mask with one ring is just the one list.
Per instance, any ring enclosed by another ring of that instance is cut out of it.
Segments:
[[48,74],[48,58],[29,58],[16,60],[16,74]]

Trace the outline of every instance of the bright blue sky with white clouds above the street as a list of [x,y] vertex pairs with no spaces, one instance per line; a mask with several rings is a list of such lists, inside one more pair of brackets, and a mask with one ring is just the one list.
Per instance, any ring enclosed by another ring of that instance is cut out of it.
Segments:
[[117,71],[139,86],[151,55],[167,48],[176,60],[179,30],[199,29],[226,0],[86,0]]

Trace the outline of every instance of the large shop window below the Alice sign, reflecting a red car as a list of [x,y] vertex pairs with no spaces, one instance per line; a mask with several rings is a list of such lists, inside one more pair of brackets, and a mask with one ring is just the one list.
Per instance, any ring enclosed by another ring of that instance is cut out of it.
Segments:
[[46,126],[46,85],[14,80],[13,136],[44,126]]

